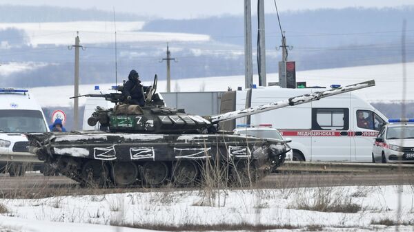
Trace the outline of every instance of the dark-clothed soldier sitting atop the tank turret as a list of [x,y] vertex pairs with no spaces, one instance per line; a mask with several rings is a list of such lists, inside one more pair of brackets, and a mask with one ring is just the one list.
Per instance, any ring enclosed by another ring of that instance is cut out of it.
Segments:
[[122,93],[130,104],[144,106],[144,93],[147,89],[148,86],[141,85],[138,72],[131,70],[128,75],[128,81],[125,83]]

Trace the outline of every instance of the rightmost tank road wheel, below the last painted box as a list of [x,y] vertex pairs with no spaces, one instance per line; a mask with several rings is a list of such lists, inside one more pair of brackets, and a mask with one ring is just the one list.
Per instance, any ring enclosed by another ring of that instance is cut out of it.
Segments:
[[249,165],[248,160],[239,160],[231,170],[232,181],[230,185],[237,187],[251,186],[257,181],[257,178],[257,169],[253,162]]

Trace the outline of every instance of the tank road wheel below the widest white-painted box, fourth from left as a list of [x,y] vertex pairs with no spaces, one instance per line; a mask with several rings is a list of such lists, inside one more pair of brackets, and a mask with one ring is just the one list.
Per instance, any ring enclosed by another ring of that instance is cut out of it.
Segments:
[[180,186],[193,185],[198,176],[199,169],[195,162],[181,161],[172,166],[172,178]]

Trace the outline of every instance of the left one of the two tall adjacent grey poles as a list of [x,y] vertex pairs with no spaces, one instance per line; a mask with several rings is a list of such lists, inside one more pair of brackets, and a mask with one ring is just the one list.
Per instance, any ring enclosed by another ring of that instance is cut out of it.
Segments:
[[252,52],[252,6],[250,0],[244,0],[244,87],[253,85]]

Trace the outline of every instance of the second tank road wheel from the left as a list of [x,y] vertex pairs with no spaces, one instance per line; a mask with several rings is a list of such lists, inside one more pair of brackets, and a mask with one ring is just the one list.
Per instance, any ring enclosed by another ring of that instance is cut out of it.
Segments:
[[128,186],[137,181],[138,169],[133,162],[115,162],[112,166],[112,180],[116,186]]

